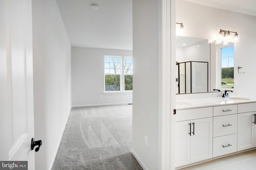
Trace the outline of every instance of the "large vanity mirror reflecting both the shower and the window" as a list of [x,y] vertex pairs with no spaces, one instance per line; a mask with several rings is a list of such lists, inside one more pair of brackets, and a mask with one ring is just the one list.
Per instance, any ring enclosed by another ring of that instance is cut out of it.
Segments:
[[176,94],[214,92],[234,88],[234,43],[177,36]]

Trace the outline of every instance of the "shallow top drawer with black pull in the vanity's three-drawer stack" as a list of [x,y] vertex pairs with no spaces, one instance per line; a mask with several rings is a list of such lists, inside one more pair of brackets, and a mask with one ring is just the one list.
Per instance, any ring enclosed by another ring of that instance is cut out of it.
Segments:
[[213,116],[231,115],[237,113],[237,105],[213,107]]

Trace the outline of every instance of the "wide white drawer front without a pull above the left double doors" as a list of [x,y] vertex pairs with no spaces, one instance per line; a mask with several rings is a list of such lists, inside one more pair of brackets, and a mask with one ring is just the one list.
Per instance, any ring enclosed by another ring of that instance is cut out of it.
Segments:
[[192,119],[201,119],[206,117],[212,117],[212,107],[177,110],[175,120],[185,121],[185,120],[192,120]]

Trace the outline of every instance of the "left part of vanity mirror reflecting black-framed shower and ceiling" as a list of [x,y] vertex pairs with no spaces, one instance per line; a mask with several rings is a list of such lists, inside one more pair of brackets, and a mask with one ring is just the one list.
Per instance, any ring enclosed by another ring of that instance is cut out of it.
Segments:
[[176,94],[209,91],[211,64],[207,39],[177,36],[176,64]]

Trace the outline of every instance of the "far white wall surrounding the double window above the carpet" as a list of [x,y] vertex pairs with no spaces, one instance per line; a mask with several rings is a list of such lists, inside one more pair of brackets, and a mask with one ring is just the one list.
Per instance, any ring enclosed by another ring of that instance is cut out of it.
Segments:
[[132,92],[104,93],[104,55],[132,57],[132,51],[72,47],[72,106],[132,103]]

